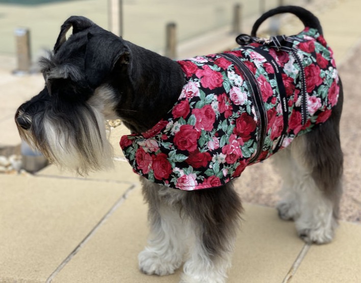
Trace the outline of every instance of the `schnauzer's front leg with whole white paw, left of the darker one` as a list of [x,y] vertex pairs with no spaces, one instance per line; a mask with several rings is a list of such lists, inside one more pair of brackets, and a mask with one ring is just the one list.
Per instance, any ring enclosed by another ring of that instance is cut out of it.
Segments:
[[149,204],[148,246],[139,253],[139,269],[148,275],[172,274],[183,263],[186,252],[186,221],[179,202],[187,192],[152,183],[142,178],[143,195]]

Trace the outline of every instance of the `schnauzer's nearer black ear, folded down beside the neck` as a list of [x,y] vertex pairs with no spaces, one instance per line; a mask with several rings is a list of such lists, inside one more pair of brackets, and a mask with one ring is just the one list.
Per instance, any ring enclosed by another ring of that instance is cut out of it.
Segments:
[[85,53],[86,80],[92,87],[99,86],[118,64],[128,65],[131,51],[120,37],[110,32],[88,33]]

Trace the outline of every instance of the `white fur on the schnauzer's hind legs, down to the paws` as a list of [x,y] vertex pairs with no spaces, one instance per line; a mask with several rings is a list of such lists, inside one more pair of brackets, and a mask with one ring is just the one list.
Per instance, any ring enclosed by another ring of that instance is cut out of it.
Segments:
[[323,244],[333,238],[337,222],[332,202],[318,188],[304,159],[304,139],[297,138],[290,149],[275,155],[281,172],[283,199],[277,204],[282,219],[295,220],[299,236],[307,243]]

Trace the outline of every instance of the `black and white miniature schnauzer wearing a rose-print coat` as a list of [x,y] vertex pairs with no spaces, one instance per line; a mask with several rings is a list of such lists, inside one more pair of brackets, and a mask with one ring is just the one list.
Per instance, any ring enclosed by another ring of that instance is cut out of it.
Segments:
[[[255,36],[266,18],[287,12],[301,19],[301,33]],[[149,204],[148,246],[138,257],[145,274],[184,263],[182,282],[224,282],[242,212],[232,180],[278,150],[280,218],[294,220],[307,243],[333,238],[343,92],[320,23],[303,8],[279,7],[237,42],[173,61],[72,16],[41,59],[44,89],[16,112],[23,139],[80,174],[112,163],[105,120],[131,130],[120,145]]]

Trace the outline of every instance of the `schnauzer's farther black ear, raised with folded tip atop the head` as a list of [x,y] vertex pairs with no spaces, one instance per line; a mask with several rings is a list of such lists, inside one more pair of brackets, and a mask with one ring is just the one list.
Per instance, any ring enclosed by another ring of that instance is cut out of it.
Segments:
[[66,33],[71,27],[73,28],[73,34],[75,34],[93,26],[95,26],[95,23],[86,17],[71,16],[68,18],[60,28],[60,33],[54,46],[54,53],[57,53],[60,46],[66,41]]

